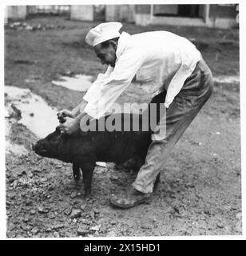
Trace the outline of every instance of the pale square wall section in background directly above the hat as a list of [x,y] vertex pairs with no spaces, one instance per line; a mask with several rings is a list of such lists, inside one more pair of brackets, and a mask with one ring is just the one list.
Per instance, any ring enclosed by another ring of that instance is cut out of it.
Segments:
[[80,21],[93,21],[93,5],[71,6],[70,18]]

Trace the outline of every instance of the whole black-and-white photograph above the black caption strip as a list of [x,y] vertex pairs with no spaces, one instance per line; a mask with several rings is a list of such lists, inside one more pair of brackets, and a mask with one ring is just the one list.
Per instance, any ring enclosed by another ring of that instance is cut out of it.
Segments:
[[6,4],[6,239],[241,237],[240,14]]

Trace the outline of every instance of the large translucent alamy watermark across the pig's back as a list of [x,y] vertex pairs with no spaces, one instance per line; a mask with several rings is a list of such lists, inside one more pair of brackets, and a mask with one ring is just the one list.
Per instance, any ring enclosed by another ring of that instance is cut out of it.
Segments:
[[[89,122],[87,117],[81,118],[82,131],[143,131],[151,132],[155,139],[163,139],[166,134],[164,103],[114,103],[113,114]],[[105,111],[104,111],[105,112]]]

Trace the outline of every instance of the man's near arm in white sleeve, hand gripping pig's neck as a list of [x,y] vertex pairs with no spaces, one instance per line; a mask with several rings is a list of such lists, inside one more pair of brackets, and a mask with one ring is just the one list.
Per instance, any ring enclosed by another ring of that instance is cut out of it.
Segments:
[[[107,78],[101,79],[95,83],[93,88],[89,89],[85,94],[84,111],[78,114],[76,118],[66,118],[66,122],[61,124],[62,130],[68,134],[72,134],[79,126],[86,126],[86,121],[92,118],[101,118],[113,105],[113,102],[121,95],[121,93],[129,86],[133,76],[145,61],[145,49],[133,47],[125,51],[119,58],[113,71],[110,70]],[[130,67],[130,68],[129,68]]]

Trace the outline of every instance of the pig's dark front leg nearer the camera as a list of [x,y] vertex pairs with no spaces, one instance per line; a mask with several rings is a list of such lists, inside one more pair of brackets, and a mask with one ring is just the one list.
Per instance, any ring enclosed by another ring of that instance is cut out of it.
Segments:
[[82,174],[83,174],[85,198],[91,193],[91,182],[92,182],[93,170],[95,166],[96,166],[96,162],[83,162],[80,164]]

